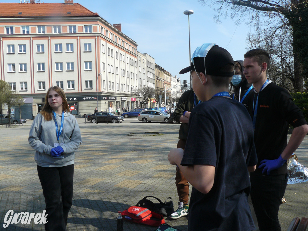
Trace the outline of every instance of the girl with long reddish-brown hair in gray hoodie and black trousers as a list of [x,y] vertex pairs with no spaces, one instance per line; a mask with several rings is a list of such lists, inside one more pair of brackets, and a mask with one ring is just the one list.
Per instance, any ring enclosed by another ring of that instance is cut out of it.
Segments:
[[48,214],[47,231],[66,231],[72,205],[74,152],[81,144],[81,135],[75,117],[68,111],[64,91],[51,87],[30,128],[29,144],[35,150],[34,160]]

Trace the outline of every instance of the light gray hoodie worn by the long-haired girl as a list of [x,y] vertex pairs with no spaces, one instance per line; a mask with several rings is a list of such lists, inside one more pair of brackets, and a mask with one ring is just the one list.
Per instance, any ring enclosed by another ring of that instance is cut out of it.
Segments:
[[[61,117],[56,113],[57,123],[60,130]],[[55,117],[52,120],[46,121],[41,113],[39,113],[30,128],[29,144],[36,151],[34,160],[42,167],[63,167],[74,164],[75,150],[81,144],[81,134],[74,115],[64,113],[63,131],[59,137],[61,147],[63,148],[64,158],[57,159],[50,155],[51,148],[57,142]]]

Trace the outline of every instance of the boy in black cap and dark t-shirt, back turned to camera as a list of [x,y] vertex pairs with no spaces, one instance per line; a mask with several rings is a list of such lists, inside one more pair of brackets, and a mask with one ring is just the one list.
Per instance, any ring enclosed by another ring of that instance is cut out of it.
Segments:
[[168,154],[170,164],[193,186],[188,230],[254,230],[247,168],[254,171],[257,156],[251,118],[228,93],[233,59],[225,49],[203,44],[180,74],[188,71],[196,96],[205,102],[189,116],[185,151],[172,149]]

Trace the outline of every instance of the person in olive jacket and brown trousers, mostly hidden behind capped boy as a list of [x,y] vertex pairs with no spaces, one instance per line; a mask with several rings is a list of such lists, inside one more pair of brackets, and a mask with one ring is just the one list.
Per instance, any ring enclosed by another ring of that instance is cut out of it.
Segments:
[[[190,112],[199,103],[197,96],[193,92],[193,89],[185,91],[176,105],[176,109],[173,113],[173,119],[177,122],[181,122],[179,130],[179,141],[176,148],[185,148],[186,139],[188,136],[188,120]],[[189,184],[183,176],[180,169],[176,166],[175,184],[177,188],[177,194],[179,195],[179,208],[170,215],[170,218],[177,219],[188,214],[188,193]]]

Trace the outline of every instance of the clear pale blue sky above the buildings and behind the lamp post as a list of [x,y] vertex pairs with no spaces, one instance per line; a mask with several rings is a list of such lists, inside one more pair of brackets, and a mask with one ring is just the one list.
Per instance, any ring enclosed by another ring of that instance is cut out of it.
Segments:
[[189,73],[178,74],[189,66],[188,15],[183,14],[184,10],[194,11],[189,16],[191,54],[203,43],[216,43],[226,48],[234,60],[243,60],[247,33],[253,31],[244,22],[235,25],[230,18],[221,18],[221,23],[216,23],[213,19],[216,12],[209,6],[202,6],[198,0],[74,0],[74,3],[97,12],[111,25],[121,23],[122,33],[136,41],[139,52],[151,55],[158,65],[180,77],[181,81],[189,82]]

